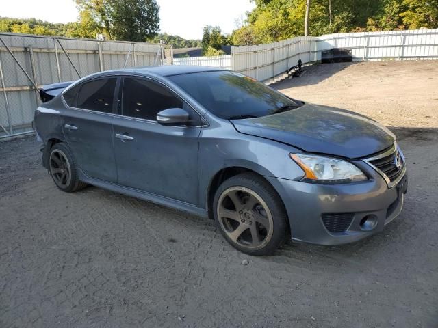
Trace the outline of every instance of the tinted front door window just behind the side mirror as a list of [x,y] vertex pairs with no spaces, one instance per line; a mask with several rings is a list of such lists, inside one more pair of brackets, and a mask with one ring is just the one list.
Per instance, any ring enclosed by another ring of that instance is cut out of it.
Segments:
[[183,108],[183,101],[167,87],[145,79],[125,78],[123,115],[145,120],[157,119],[157,113],[169,108]]

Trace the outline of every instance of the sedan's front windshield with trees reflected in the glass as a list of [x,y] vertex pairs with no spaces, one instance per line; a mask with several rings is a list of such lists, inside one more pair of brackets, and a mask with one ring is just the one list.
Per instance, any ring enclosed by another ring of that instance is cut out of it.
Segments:
[[219,118],[257,118],[302,105],[237,72],[181,74],[168,79]]

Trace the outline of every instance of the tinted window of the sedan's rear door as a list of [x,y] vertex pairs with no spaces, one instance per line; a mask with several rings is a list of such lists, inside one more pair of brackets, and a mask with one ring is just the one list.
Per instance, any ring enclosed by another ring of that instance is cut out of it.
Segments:
[[[77,94],[77,105],[75,107],[112,113],[116,81],[117,79],[99,79],[83,83]],[[65,94],[64,98],[66,98]],[[67,99],[66,102],[68,103]]]

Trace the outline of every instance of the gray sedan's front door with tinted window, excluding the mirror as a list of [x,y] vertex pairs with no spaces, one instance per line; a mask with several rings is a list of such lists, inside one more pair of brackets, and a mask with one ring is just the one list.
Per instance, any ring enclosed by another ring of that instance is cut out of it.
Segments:
[[[175,107],[190,113],[192,126],[157,123],[159,111]],[[114,120],[118,183],[197,204],[198,113],[166,85],[142,77],[124,78],[120,110]]]

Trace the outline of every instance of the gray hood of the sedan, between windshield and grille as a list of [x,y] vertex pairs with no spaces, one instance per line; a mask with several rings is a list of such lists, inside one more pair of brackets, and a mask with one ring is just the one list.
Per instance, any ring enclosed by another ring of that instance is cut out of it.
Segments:
[[385,126],[363,115],[313,104],[231,123],[246,135],[287,143],[305,152],[350,159],[381,152],[396,139]]

